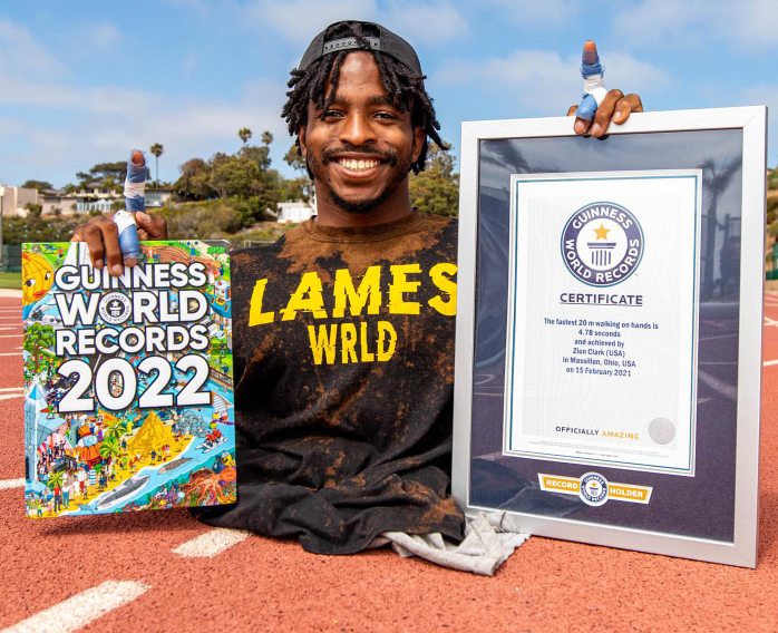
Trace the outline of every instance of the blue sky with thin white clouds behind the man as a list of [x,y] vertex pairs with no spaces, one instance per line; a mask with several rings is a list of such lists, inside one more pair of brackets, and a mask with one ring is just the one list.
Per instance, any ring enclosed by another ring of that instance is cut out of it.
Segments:
[[273,166],[291,175],[289,70],[346,18],[416,47],[456,153],[463,120],[565,114],[586,39],[607,86],[646,109],[765,104],[778,129],[776,0],[30,0],[0,7],[0,183],[62,186],[153,143],[172,181],[188,158],[237,149],[241,127],[272,132]]

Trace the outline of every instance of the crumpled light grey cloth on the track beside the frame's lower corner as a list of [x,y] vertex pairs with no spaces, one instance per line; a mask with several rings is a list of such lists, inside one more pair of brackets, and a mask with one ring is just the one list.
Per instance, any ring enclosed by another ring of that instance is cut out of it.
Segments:
[[482,576],[493,576],[528,534],[507,513],[479,513],[467,519],[465,539],[459,543],[447,541],[440,533],[406,534],[383,532],[369,547],[390,544],[403,558],[419,556],[443,567],[460,572],[471,572]]

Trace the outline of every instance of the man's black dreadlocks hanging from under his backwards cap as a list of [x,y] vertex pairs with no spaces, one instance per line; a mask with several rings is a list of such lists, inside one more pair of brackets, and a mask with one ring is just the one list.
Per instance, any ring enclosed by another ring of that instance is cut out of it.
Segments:
[[[425,130],[425,139],[421,153],[410,169],[418,174],[424,171],[427,160],[427,142],[431,138],[444,152],[448,145],[438,135],[440,124],[438,123],[432,107],[432,98],[425,89],[424,80],[426,75],[416,75],[401,61],[380,50],[371,50],[367,38],[378,36],[369,25],[362,22],[344,21],[333,25],[328,29],[325,39],[338,39],[353,37],[366,48],[366,52],[371,52],[381,76],[381,85],[389,98],[395,99],[401,113],[410,110],[410,121],[414,128],[421,127]],[[362,49],[356,49],[362,50]],[[338,78],[343,59],[352,50],[332,51],[323,55],[304,70],[295,68],[292,70],[292,78],[288,86],[292,88],[286,96],[289,100],[281,110],[281,116],[289,124],[289,134],[295,135],[301,125],[308,124],[308,104],[313,101],[322,114],[320,118],[324,120],[324,113],[332,104],[338,90]],[[330,77],[330,72],[332,76]],[[327,78],[330,77],[332,90],[327,95]],[[300,154],[300,138],[296,139],[298,153]],[[309,171],[310,174],[310,171]]]

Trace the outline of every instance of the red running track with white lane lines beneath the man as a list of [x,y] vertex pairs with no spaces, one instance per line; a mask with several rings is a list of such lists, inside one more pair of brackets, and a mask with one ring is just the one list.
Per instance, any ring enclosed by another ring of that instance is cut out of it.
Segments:
[[[0,354],[21,351],[18,305],[0,299]],[[767,295],[766,314],[769,362],[778,294]],[[776,384],[778,364],[765,367],[756,571],[533,537],[494,578],[389,551],[305,554],[294,542],[211,530],[179,510],[27,519],[22,398],[3,398],[0,630],[42,631],[36,617],[50,610],[52,631],[776,631]],[[20,387],[21,356],[0,356],[0,397]],[[201,535],[210,543],[192,543]],[[213,555],[174,552],[182,546]]]

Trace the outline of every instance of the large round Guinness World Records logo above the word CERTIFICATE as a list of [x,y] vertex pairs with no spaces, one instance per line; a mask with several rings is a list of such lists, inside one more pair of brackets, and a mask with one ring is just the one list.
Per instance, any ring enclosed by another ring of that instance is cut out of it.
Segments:
[[573,276],[600,288],[629,277],[643,257],[643,230],[626,208],[595,202],[576,211],[562,232],[562,259]]

